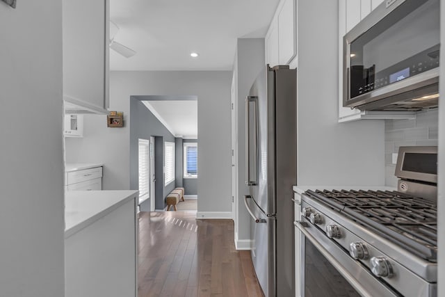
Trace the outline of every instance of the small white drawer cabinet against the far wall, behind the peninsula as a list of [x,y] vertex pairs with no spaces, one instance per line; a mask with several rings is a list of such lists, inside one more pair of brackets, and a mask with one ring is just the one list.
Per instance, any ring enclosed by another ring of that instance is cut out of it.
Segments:
[[67,172],[65,189],[67,191],[102,190],[102,166]]

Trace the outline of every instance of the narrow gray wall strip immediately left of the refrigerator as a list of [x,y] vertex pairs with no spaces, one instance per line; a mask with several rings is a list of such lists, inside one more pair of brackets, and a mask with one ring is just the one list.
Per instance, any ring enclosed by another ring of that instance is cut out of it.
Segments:
[[[235,63],[238,70],[238,240],[250,239],[250,216],[244,205],[245,186],[245,97],[264,67],[264,38],[238,38]],[[229,161],[231,162],[231,161]],[[236,228],[235,228],[236,230]]]

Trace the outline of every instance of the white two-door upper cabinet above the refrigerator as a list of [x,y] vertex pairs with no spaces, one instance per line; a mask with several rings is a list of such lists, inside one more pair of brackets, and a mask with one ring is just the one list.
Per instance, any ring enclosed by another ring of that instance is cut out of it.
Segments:
[[296,0],[282,0],[266,34],[266,63],[289,65],[297,54]]

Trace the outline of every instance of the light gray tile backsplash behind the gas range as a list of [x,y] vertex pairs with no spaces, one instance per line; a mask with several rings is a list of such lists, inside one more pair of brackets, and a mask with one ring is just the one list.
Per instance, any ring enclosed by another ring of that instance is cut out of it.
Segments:
[[392,154],[398,147],[437,145],[439,113],[437,109],[420,111],[413,120],[385,120],[385,184],[397,186]]

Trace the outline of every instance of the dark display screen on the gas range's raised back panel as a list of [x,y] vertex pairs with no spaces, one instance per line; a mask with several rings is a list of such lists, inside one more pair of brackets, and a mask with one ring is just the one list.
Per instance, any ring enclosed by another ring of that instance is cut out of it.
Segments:
[[402,170],[437,175],[437,154],[405,152]]

